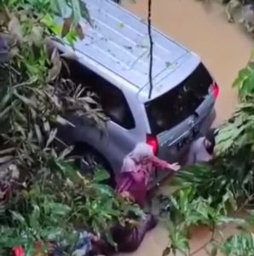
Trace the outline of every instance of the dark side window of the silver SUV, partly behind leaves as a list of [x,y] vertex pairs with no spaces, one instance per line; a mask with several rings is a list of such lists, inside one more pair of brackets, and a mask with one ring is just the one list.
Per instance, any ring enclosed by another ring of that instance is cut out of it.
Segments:
[[114,123],[125,129],[135,128],[134,117],[122,90],[77,61],[68,64],[72,80],[76,84],[84,84],[85,87],[95,92],[101,107]]

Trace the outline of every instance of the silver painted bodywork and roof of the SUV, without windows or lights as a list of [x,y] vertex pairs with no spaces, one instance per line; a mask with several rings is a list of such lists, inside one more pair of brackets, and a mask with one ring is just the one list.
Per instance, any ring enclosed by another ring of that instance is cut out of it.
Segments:
[[[60,38],[55,38],[53,42],[62,52],[74,53],[80,64],[121,90],[135,119],[135,127],[128,130],[110,120],[101,135],[101,131],[90,125],[85,117],[69,116],[67,118],[75,128],[62,126],[59,134],[68,144],[89,144],[118,173],[124,156],[136,143],[146,142],[147,134],[151,133],[145,108],[145,102],[150,100],[147,24],[110,0],[85,0],[84,3],[93,25],[89,26],[83,20],[84,39],[73,47]],[[155,28],[152,34],[154,88],[151,99],[154,99],[190,76],[199,65],[200,58]],[[181,150],[176,149],[176,144],[188,137],[195,125],[199,126],[195,137],[210,128],[215,119],[214,104],[215,97],[207,95],[195,114],[169,131],[160,133],[159,157],[169,161],[179,160],[194,137]]]

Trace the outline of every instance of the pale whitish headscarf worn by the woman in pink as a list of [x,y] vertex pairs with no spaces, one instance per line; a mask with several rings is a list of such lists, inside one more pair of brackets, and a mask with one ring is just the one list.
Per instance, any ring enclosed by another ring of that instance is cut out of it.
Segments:
[[124,157],[121,172],[136,172],[137,165],[145,158],[153,156],[153,148],[147,143],[138,143],[136,147]]

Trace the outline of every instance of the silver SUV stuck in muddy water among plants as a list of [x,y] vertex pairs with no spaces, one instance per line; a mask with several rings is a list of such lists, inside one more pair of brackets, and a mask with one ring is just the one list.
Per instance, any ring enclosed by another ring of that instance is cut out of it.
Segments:
[[148,98],[147,24],[110,0],[85,0],[93,26],[84,22],[85,38],[74,48],[72,79],[94,90],[107,116],[101,137],[86,119],[70,117],[60,136],[79,152],[87,150],[111,173],[139,142],[161,159],[178,161],[194,137],[215,119],[218,86],[198,55],[153,28],[153,93]]

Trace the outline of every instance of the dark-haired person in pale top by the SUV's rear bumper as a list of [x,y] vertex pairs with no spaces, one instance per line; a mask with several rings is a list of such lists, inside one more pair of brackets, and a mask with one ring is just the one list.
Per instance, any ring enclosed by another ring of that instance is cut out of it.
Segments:
[[211,129],[205,137],[199,137],[189,149],[186,166],[210,162],[214,158],[216,129]]

